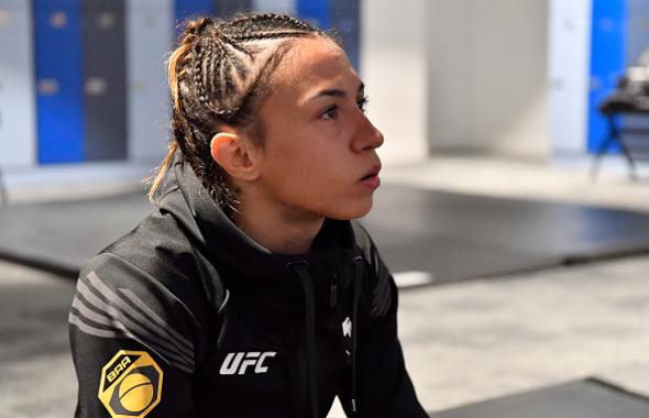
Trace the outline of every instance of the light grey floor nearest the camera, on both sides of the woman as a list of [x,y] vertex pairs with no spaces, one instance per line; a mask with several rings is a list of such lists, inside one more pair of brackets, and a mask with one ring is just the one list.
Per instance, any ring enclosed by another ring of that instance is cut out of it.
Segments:
[[[402,290],[420,400],[441,410],[585,376],[649,395],[648,271],[641,257]],[[0,417],[70,416],[73,284],[9,263],[0,277]]]

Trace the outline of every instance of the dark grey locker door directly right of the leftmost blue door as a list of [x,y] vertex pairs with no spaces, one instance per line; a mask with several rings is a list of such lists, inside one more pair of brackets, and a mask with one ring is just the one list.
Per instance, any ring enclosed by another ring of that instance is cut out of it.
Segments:
[[86,160],[125,160],[124,1],[81,1]]

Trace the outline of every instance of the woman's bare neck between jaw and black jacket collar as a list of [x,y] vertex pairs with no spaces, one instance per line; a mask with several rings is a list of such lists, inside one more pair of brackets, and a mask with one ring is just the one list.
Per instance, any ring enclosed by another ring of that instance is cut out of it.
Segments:
[[299,215],[261,201],[244,201],[234,213],[237,226],[252,240],[273,253],[298,255],[311,249],[324,218]]

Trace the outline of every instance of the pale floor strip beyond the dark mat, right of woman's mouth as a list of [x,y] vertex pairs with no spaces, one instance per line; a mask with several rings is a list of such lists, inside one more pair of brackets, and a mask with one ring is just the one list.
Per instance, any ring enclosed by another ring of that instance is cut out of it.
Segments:
[[649,211],[649,163],[629,180],[626,162],[606,156],[596,179],[590,157],[521,161],[484,155],[435,155],[419,164],[388,166],[389,184],[460,194],[591,205]]

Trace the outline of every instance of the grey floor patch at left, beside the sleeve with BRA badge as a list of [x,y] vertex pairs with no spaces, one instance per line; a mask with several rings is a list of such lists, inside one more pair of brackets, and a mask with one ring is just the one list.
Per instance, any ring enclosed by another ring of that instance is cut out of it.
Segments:
[[74,283],[0,263],[0,417],[72,417]]

